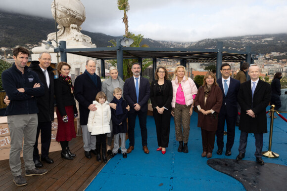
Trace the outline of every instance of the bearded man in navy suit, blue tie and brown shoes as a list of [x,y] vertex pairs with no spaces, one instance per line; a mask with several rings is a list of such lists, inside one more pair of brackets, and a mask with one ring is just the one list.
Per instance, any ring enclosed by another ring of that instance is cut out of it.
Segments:
[[131,153],[135,148],[135,125],[136,117],[139,116],[142,145],[144,153],[148,154],[147,149],[147,129],[146,129],[146,115],[147,115],[147,101],[150,95],[150,86],[148,79],[140,76],[141,66],[139,63],[134,63],[132,66],[133,76],[126,79],[124,85],[124,98],[131,106],[128,120],[129,120],[129,140],[130,147],[127,153]]

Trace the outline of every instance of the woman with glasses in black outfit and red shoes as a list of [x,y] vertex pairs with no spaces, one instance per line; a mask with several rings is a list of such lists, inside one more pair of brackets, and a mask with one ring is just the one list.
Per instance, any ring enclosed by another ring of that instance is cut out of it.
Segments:
[[156,126],[158,149],[165,153],[168,147],[171,118],[172,83],[168,80],[168,73],[164,67],[155,71],[155,80],[150,84],[150,101]]

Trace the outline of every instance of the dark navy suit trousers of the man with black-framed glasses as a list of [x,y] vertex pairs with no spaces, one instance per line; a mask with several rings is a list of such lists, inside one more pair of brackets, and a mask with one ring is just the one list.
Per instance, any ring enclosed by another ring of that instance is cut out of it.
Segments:
[[[222,111],[220,111],[222,112]],[[234,137],[235,137],[235,124],[236,124],[236,117],[229,117],[227,115],[227,110],[224,108],[223,113],[219,115],[218,119],[218,125],[217,125],[217,131],[216,131],[216,143],[218,149],[223,150],[224,143],[223,143],[223,131],[224,131],[224,125],[226,120],[227,125],[227,143],[226,143],[226,150],[231,150],[234,144]]]

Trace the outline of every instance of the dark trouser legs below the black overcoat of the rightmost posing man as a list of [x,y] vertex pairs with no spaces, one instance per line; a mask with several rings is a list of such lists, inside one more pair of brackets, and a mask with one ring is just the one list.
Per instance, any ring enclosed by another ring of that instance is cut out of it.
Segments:
[[[262,133],[254,133],[255,137],[255,157],[262,157],[262,148],[263,148],[263,134]],[[239,140],[239,153],[245,153],[246,152],[246,146],[247,146],[247,138],[248,133],[241,131],[240,133],[240,140]]]

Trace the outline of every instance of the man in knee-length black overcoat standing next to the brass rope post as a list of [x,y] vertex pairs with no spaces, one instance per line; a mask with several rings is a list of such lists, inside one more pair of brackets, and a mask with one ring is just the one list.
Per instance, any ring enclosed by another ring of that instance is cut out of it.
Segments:
[[271,86],[259,79],[260,68],[257,65],[249,67],[250,80],[241,83],[238,102],[241,106],[239,121],[240,140],[237,160],[245,156],[248,133],[254,133],[255,157],[259,164],[262,160],[263,133],[267,133],[266,107],[271,99]]

